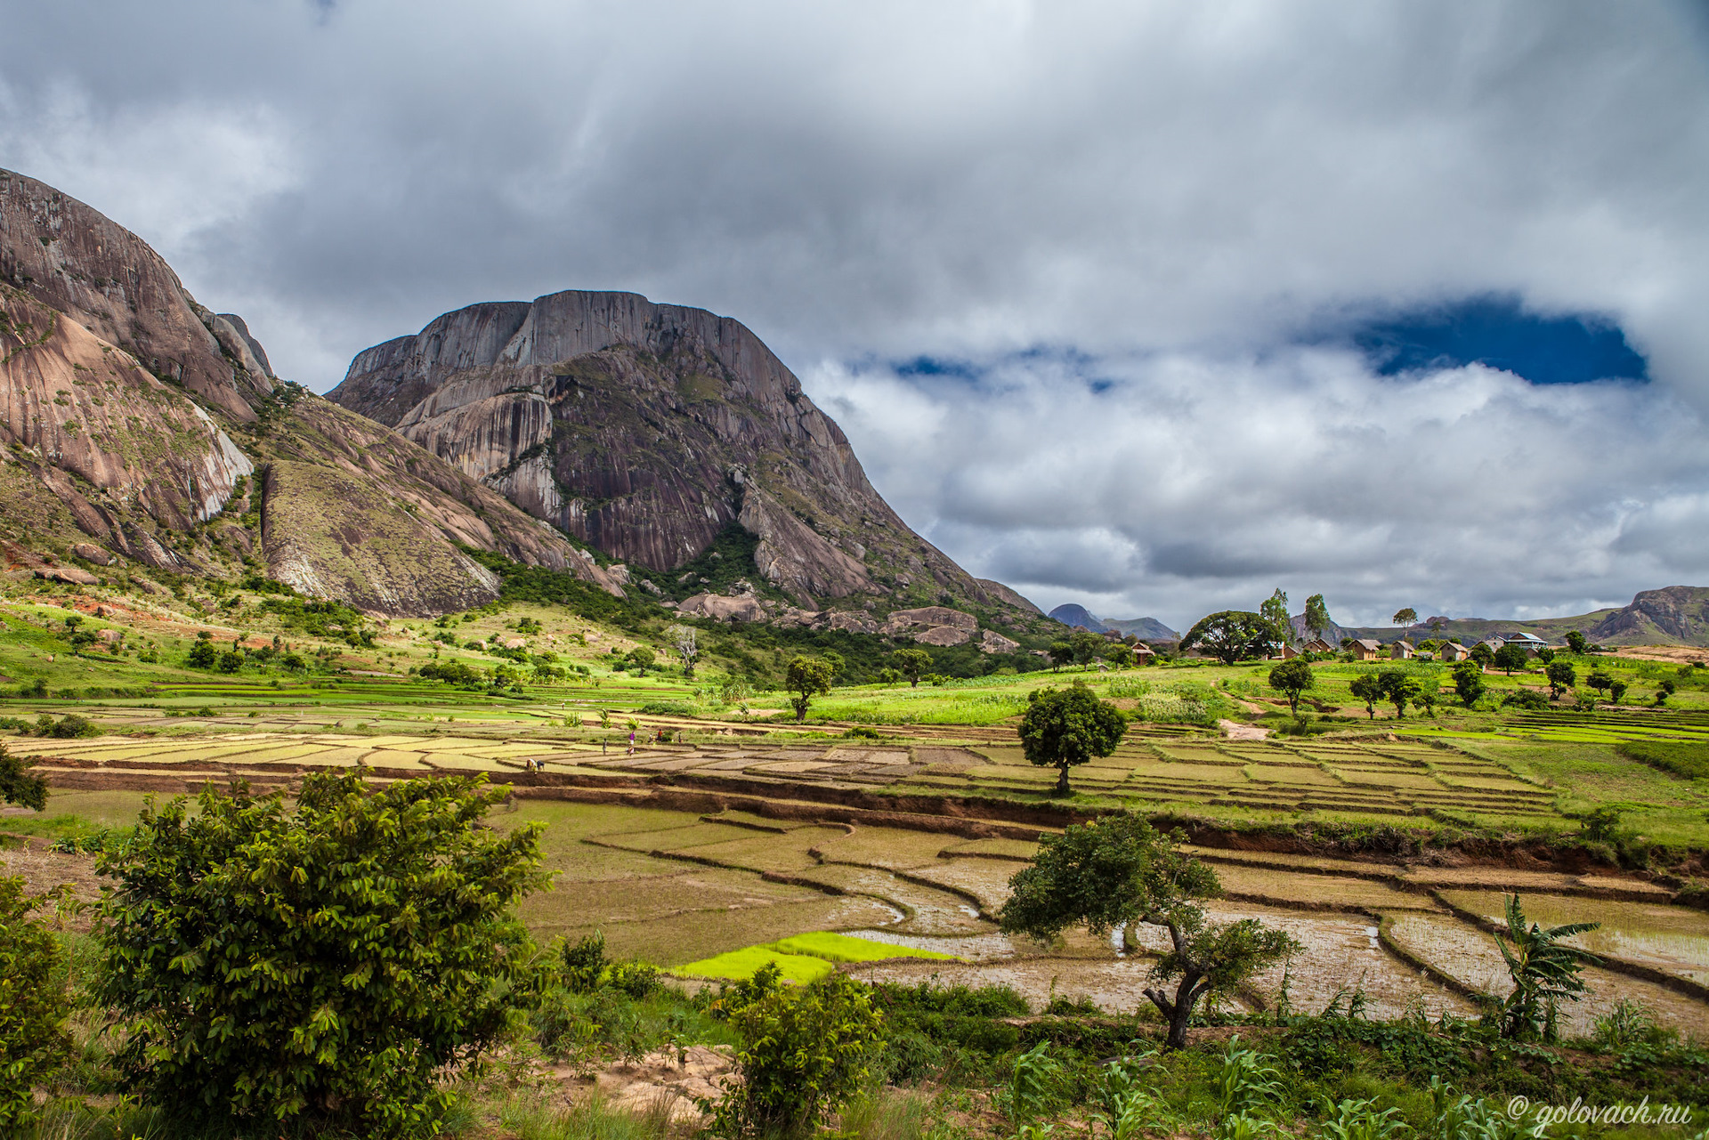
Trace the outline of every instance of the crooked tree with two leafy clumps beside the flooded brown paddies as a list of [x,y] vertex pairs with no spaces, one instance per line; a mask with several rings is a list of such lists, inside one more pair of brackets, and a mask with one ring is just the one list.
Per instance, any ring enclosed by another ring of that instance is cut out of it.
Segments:
[[[1032,865],[1008,885],[1012,894],[998,911],[1005,933],[1054,938],[1082,923],[1101,938],[1130,923],[1169,933],[1171,949],[1152,967],[1155,984],[1145,990],[1169,1022],[1169,1049],[1186,1044],[1200,998],[1232,993],[1256,971],[1299,950],[1287,933],[1254,918],[1208,921],[1200,901],[1222,894],[1215,872],[1130,812],[1042,836]],[[1172,996],[1164,990],[1171,981]]]

